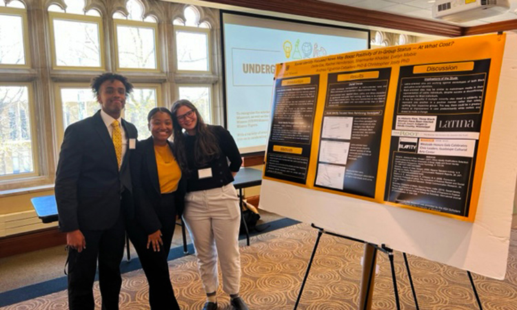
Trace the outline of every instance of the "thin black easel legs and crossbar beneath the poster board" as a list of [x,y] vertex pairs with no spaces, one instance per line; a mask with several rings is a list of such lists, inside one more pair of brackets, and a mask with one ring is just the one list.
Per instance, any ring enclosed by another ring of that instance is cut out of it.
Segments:
[[[312,249],[311,258],[309,260],[309,264],[307,265],[307,270],[305,271],[305,276],[303,278],[302,285],[300,287],[300,291],[298,292],[298,298],[296,298],[296,303],[294,304],[294,310],[296,310],[298,308],[298,304],[299,304],[299,302],[301,300],[301,296],[302,296],[302,293],[303,293],[303,287],[305,287],[305,282],[307,282],[307,277],[309,276],[309,271],[310,271],[311,266],[312,266],[312,261],[314,260],[314,256],[316,254],[316,249],[318,248],[318,243],[319,243],[320,238],[321,238],[321,236],[323,234],[328,234],[330,236],[335,236],[335,237],[339,237],[339,238],[345,238],[345,239],[348,239],[348,240],[352,240],[352,241],[356,241],[356,242],[361,242],[361,243],[365,243],[365,244],[367,243],[367,242],[365,242],[363,240],[359,240],[359,239],[348,237],[348,236],[343,236],[343,235],[336,234],[336,233],[333,233],[333,232],[330,232],[330,231],[325,231],[325,229],[323,229],[321,227],[317,227],[314,224],[311,224],[311,227],[313,227],[315,229],[318,229],[318,237],[316,238],[316,242],[314,244],[314,249]],[[369,243],[369,242],[367,244],[371,245],[372,247],[374,247],[374,255],[372,257],[372,264],[370,265],[369,277],[368,277],[367,288],[366,288],[366,295],[365,295],[366,296],[366,302],[364,304],[364,308],[363,309],[367,309],[367,306],[368,306],[368,302],[367,301],[368,301],[369,291],[370,291],[371,286],[372,286],[372,279],[373,279],[373,275],[374,275],[376,251],[382,251],[383,253],[387,254],[388,257],[389,257],[389,264],[390,264],[391,269],[392,269],[392,280],[393,280],[393,287],[394,287],[395,302],[396,302],[396,305],[397,305],[397,309],[400,310],[401,309],[401,304],[400,304],[400,301],[398,299],[398,288],[397,288],[397,284],[396,284],[396,275],[395,275],[395,265],[394,265],[393,249],[389,249],[389,247],[386,247],[385,245],[381,245],[381,247],[379,247],[378,245],[374,245],[374,244]],[[409,265],[407,265],[407,259],[405,259],[405,263],[406,263],[406,267],[407,267],[407,271],[408,271],[407,274],[408,274],[408,277],[409,277],[409,282],[411,282],[411,284],[412,284],[412,291],[413,291],[413,296],[414,296],[414,299],[415,299],[416,309],[418,309],[418,302],[416,301],[416,293],[414,291],[413,280],[411,279],[411,273],[409,272]]]

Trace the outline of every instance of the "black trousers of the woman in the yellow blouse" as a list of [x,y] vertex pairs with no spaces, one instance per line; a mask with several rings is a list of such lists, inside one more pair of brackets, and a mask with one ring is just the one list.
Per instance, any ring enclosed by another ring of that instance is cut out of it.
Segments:
[[[147,248],[148,234],[135,218],[128,225],[128,235],[136,253],[139,255],[140,263],[145,276],[149,282],[149,304],[152,310],[179,309],[179,304],[174,296],[169,276],[170,245],[174,228],[176,227],[176,207],[174,205],[174,193],[163,194],[160,205],[154,208],[156,215],[161,222],[161,240],[163,247],[160,251],[154,251],[152,246]],[[154,231],[153,231],[154,232]]]

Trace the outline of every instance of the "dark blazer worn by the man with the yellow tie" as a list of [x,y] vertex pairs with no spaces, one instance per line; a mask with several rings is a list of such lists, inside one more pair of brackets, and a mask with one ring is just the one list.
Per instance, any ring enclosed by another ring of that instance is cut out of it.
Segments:
[[[122,120],[125,137],[138,137],[136,127]],[[122,167],[100,110],[68,126],[61,145],[54,192],[61,231],[103,230],[114,225],[121,208],[134,216],[130,157],[125,152]]]

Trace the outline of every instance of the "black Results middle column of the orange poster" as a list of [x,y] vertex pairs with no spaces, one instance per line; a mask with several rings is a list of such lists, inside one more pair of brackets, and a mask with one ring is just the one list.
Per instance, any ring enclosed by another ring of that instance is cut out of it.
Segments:
[[328,74],[314,186],[374,198],[390,75]]

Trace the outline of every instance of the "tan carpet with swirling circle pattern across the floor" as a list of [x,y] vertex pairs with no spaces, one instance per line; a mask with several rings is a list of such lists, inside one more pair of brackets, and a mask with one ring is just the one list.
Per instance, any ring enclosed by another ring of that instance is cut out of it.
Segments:
[[[241,247],[243,277],[241,295],[250,309],[293,309],[301,280],[312,253],[317,231],[298,224],[252,238]],[[517,310],[517,231],[512,231],[506,280],[491,280],[473,274],[483,309]],[[241,243],[243,245],[243,243]],[[360,260],[363,245],[323,235],[298,309],[357,309]],[[408,256],[420,309],[478,309],[467,273],[415,256]],[[378,255],[372,309],[396,309],[389,260]],[[401,253],[395,267],[401,309],[415,309]],[[172,260],[170,275],[181,309],[201,309],[203,289],[194,256]],[[99,287],[95,285],[100,304]],[[123,275],[121,309],[148,309],[148,291],[141,269]],[[230,309],[220,290],[219,309]],[[67,309],[66,291],[52,293],[7,309]],[[100,307],[99,307],[100,309]]]

